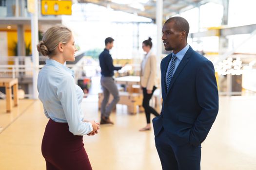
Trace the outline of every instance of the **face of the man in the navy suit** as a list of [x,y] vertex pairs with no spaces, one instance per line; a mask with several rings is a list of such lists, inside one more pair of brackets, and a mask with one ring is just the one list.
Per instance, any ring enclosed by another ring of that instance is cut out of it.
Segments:
[[181,46],[181,32],[175,29],[174,24],[171,21],[163,25],[162,40],[166,51],[175,51]]

